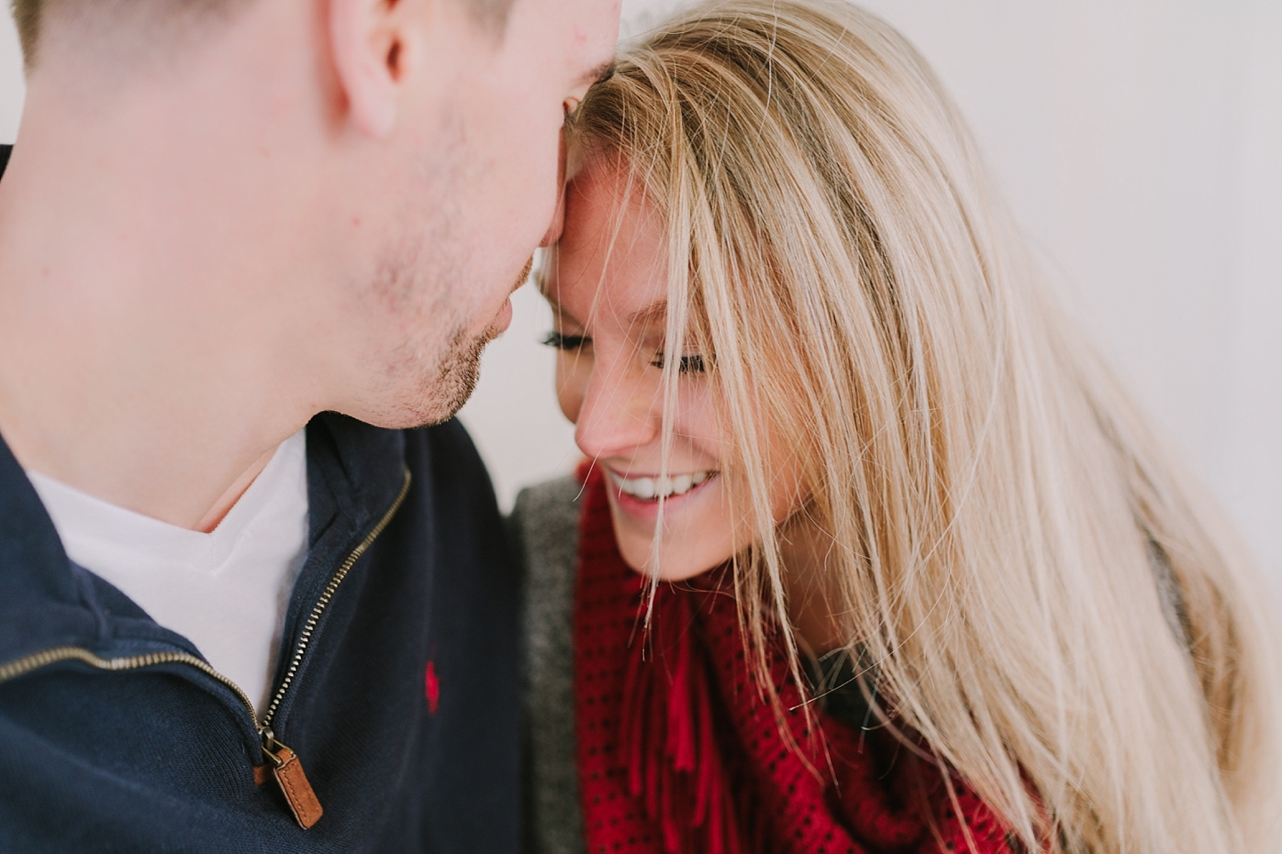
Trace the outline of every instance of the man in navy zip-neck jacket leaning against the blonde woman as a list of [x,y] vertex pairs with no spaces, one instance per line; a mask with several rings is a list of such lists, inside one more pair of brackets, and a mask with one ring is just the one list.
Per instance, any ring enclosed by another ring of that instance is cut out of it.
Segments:
[[515,849],[501,525],[409,428],[508,323],[617,0],[14,5],[0,850]]

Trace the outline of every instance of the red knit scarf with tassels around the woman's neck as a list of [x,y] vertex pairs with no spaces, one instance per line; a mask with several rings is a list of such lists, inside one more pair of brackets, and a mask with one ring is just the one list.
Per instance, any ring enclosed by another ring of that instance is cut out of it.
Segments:
[[[709,574],[649,584],[619,556],[600,472],[579,529],[574,713],[588,854],[1009,854],[994,813],[881,732],[799,708],[769,657],[783,726],[744,656],[733,597]],[[724,579],[722,579],[724,583]],[[968,841],[968,836],[969,840]]]

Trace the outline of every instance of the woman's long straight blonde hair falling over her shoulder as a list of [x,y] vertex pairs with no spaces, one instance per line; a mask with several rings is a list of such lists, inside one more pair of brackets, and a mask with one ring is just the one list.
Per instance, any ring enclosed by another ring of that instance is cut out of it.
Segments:
[[1268,597],[1054,303],[917,51],[841,1],[708,4],[572,131],[663,216],[668,352],[713,355],[753,485],[751,635],[787,613],[767,421],[869,690],[1029,850],[1276,842]]

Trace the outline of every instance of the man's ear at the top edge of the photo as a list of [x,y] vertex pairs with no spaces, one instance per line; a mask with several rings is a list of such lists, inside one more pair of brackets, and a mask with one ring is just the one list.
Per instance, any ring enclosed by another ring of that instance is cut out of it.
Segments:
[[385,138],[396,127],[405,74],[409,0],[331,0],[329,41],[338,83],[356,128]]

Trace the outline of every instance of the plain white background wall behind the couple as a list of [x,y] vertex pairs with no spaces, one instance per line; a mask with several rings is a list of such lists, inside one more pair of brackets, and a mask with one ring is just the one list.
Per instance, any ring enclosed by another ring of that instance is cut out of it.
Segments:
[[[935,65],[1069,302],[1282,586],[1282,3],[865,5]],[[674,6],[626,0],[624,33]],[[0,140],[22,95],[5,22]],[[463,411],[504,502],[577,458],[547,312],[514,302]]]

